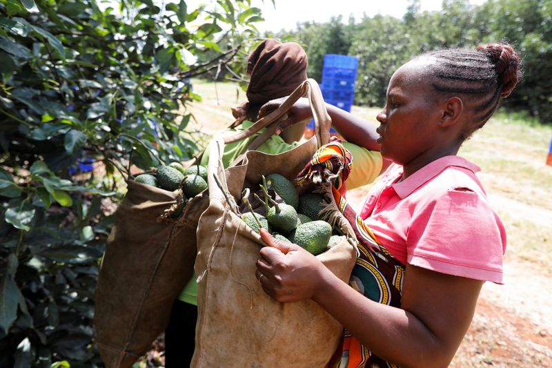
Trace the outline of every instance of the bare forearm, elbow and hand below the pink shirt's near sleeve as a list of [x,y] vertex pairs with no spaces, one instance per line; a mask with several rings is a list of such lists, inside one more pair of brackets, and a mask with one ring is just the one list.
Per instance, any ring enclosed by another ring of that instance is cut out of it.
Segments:
[[310,253],[273,240],[257,277],[279,302],[312,298],[374,354],[402,367],[446,367],[466,333],[483,282],[408,265],[401,308],[373,302]]

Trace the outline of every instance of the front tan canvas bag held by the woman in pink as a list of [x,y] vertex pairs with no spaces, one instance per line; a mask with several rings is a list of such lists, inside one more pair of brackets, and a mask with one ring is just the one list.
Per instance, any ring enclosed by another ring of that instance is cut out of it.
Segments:
[[[209,206],[197,229],[198,322],[192,367],[324,367],[342,336],[339,322],[312,300],[280,303],[263,291],[255,278],[262,240],[237,215],[233,200],[241,197],[242,188],[257,185],[261,175],[295,177],[328,142],[331,121],[313,79],[286,102],[293,104],[303,95],[311,101],[317,134],[301,146],[278,155],[249,151],[241,164],[224,171],[219,158],[224,142],[210,145]],[[317,258],[348,281],[356,253],[344,240]]]

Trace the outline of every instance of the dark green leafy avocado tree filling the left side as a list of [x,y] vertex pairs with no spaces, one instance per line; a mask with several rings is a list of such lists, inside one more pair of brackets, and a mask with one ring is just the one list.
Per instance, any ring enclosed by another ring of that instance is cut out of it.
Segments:
[[243,64],[262,20],[250,1],[160,4],[0,0],[0,367],[100,364],[121,184],[197,153],[190,78]]

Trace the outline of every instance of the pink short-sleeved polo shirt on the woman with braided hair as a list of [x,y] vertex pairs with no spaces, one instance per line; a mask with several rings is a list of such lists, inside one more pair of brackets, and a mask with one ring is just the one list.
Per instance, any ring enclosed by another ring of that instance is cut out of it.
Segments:
[[502,284],[506,231],[477,171],[462,157],[446,156],[397,183],[402,166],[393,164],[360,216],[404,264]]

